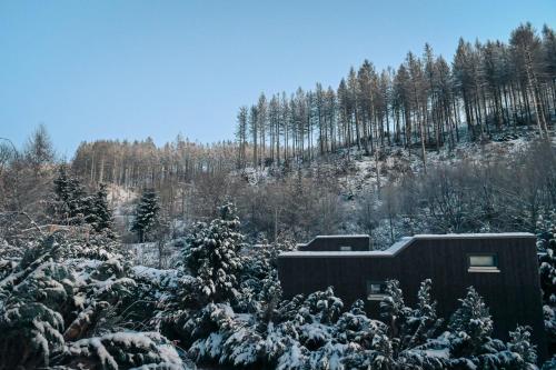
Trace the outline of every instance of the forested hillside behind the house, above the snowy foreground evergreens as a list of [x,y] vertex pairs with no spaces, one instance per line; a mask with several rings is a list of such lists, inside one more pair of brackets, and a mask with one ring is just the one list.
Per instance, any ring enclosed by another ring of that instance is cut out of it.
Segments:
[[[535,142],[553,134],[555,40],[549,27],[538,33],[527,23],[508,43],[460,40],[451,64],[428,46],[396,70],[364,62],[337,90],[317,84],[241,108],[237,141],[83,142],[70,169],[90,193],[100,183],[136,194],[153,189],[161,214],[186,224],[216,217],[231,200],[247,234],[261,241],[366,232],[386,247],[416,232],[534,232],[556,207],[554,146]],[[461,160],[457,152],[448,164],[430,159],[458,140],[506,133],[532,143],[488,160]],[[361,171],[356,162],[366,151],[374,154],[364,173],[370,190],[354,196],[341,179]],[[56,164],[44,127],[21,152],[0,141],[2,209],[47,222]],[[132,214],[120,211],[126,234]]]

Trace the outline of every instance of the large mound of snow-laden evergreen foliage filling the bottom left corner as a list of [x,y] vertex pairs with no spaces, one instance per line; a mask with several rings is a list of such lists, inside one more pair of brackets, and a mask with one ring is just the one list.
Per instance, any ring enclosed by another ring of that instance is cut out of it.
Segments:
[[185,368],[160,334],[125,329],[137,284],[121,256],[81,241],[49,236],[0,280],[0,369]]

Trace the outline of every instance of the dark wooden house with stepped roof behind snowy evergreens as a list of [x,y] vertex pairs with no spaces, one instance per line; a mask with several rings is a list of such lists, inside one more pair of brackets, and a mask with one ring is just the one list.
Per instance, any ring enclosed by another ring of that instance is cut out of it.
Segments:
[[544,357],[543,308],[533,234],[420,234],[404,238],[385,251],[341,250],[340,247],[359,239],[363,238],[324,241],[316,238],[308,248],[281,253],[278,272],[286,298],[332,286],[345,304],[363,299],[369,314],[378,319],[386,280],[399,280],[406,302],[414,306],[420,282],[431,279],[438,314],[449,318],[458,308],[458,299],[473,286],[490,309],[494,336],[507,340],[508,331],[517,324],[529,326]]

